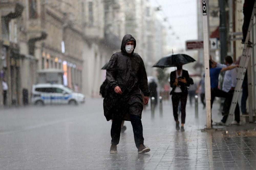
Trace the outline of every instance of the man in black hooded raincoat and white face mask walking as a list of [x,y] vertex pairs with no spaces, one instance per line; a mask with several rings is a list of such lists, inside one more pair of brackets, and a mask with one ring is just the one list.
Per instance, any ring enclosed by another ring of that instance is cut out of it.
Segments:
[[[103,100],[103,108],[107,121],[113,120],[110,153],[117,153],[116,145],[120,140],[123,120],[131,121],[138,153],[150,151],[150,148],[144,145],[141,123],[143,104],[148,103],[150,92],[143,60],[140,55],[134,53],[135,47],[135,38],[126,34],[122,40],[121,51],[112,55],[106,69],[106,91],[109,94]],[[145,96],[144,101],[140,90]]]

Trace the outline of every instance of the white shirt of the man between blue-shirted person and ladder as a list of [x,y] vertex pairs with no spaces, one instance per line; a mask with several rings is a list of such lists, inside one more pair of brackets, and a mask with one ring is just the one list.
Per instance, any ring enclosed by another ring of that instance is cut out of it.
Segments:
[[[231,64],[231,66],[233,66],[234,64]],[[217,64],[217,67],[220,68],[225,68],[227,67],[225,64]],[[231,87],[236,87],[237,84],[237,69],[234,68],[232,70],[227,70],[225,71],[225,76],[224,76],[224,80],[223,80],[223,84],[222,84],[222,90],[225,92],[228,92]]]

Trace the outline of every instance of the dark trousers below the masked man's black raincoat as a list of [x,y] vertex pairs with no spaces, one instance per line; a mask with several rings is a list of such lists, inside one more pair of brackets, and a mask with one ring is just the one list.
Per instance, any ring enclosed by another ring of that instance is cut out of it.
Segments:
[[[130,114],[131,124],[133,128],[134,141],[137,148],[140,148],[141,144],[144,144],[143,128],[141,123],[141,117],[138,115]],[[118,145],[120,140],[122,120],[113,120],[111,126],[111,143]]]

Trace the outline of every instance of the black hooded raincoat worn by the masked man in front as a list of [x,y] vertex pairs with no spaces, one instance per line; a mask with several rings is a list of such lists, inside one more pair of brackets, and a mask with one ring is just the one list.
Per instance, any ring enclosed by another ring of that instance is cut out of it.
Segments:
[[[107,121],[111,119],[130,121],[129,114],[141,117],[143,100],[140,90],[144,96],[150,94],[142,58],[134,53],[134,50],[130,56],[126,53],[125,44],[129,41],[134,41],[135,49],[135,38],[126,34],[122,40],[121,51],[112,55],[106,69],[108,94],[103,100],[103,109]],[[121,88],[122,95],[115,93],[116,86]]]

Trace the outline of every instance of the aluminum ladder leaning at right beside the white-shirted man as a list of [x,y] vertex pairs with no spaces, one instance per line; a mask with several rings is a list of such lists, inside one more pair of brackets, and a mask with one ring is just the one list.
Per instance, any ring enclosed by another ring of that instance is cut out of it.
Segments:
[[228,118],[226,121],[226,126],[230,126],[231,122],[234,120],[234,112],[235,112],[235,109],[237,106],[238,97],[239,97],[241,87],[243,84],[244,75],[247,70],[248,62],[251,59],[252,46],[248,45],[248,41],[250,38],[250,32],[252,30],[254,16],[256,16],[256,3],[254,3],[251,21],[250,21],[249,28],[247,31],[246,39],[244,41],[243,53],[242,53],[242,57],[240,59],[239,68],[238,68],[238,72],[237,72],[237,84],[236,84],[236,88],[235,88],[234,95],[232,98],[232,103],[229,108],[229,114],[228,114]]

